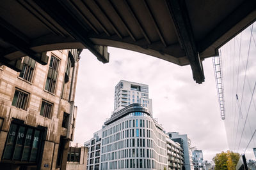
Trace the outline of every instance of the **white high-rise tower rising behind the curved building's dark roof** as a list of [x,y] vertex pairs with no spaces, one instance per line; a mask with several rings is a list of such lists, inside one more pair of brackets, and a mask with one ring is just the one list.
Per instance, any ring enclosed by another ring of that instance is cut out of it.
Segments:
[[114,112],[132,103],[140,103],[152,114],[152,99],[148,98],[148,85],[121,80],[115,87]]

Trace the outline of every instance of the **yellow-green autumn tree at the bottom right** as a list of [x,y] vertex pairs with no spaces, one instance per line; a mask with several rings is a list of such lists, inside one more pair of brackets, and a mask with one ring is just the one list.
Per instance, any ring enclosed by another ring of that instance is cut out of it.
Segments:
[[216,170],[236,170],[236,164],[240,158],[239,153],[221,152],[217,153],[212,159],[215,163]]

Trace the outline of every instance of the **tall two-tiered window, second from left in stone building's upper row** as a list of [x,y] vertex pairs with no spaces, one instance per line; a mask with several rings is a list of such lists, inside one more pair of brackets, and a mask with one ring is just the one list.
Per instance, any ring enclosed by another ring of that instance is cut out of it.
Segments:
[[60,63],[59,59],[57,59],[54,56],[51,57],[47,79],[45,83],[45,90],[51,93],[55,92],[59,63]]

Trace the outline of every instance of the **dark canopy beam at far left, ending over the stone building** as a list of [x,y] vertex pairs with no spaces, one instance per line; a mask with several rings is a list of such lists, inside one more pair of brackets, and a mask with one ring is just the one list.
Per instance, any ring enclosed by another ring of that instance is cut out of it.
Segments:
[[42,53],[36,53],[29,48],[29,39],[22,34],[22,32],[18,31],[15,27],[3,20],[3,18],[0,18],[0,32],[0,38],[12,45],[14,48],[25,53],[42,65],[47,64],[47,61],[44,59],[42,60]]

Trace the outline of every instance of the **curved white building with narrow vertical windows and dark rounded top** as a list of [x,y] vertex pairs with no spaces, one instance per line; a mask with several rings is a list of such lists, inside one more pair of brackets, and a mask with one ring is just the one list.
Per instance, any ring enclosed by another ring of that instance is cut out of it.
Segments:
[[148,108],[131,104],[104,123],[100,169],[167,169],[163,127]]

